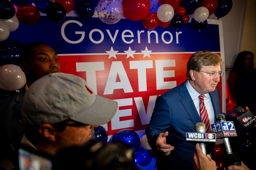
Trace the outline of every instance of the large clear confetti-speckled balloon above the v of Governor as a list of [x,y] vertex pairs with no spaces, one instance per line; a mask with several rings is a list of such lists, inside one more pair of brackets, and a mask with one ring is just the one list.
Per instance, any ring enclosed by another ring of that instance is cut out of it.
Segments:
[[105,24],[115,24],[122,18],[123,5],[119,0],[100,0],[97,5],[97,15]]

